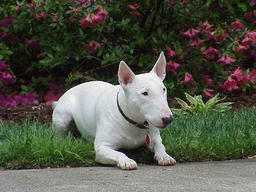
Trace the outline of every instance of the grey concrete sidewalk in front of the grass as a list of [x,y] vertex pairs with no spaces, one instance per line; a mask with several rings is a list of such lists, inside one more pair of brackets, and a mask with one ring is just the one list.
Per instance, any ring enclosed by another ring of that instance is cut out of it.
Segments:
[[184,163],[0,171],[0,191],[256,191],[256,159]]

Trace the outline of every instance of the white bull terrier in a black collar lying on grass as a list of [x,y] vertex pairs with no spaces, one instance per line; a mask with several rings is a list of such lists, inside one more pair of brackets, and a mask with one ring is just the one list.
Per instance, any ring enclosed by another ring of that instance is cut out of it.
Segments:
[[174,165],[162,144],[159,129],[173,120],[168,107],[163,52],[152,71],[134,75],[124,61],[120,62],[120,85],[86,82],[71,88],[55,103],[52,126],[57,135],[78,130],[94,142],[96,161],[117,164],[122,170],[134,170],[134,160],[120,153],[143,144],[155,152],[159,165]]

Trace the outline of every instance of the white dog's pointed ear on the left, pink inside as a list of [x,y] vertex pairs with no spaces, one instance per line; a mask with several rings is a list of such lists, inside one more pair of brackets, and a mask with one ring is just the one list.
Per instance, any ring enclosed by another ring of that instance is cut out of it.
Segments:
[[126,86],[131,83],[135,75],[132,70],[126,65],[124,61],[120,61],[119,70],[118,70],[118,81],[122,86]]

